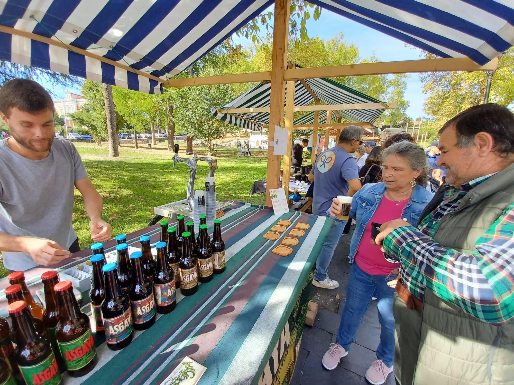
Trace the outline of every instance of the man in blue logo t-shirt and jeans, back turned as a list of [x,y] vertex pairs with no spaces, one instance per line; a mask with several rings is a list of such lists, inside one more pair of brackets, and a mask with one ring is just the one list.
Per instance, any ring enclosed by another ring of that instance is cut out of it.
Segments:
[[[348,126],[341,131],[336,147],[323,151],[316,158],[316,163],[309,174],[309,181],[314,183],[313,214],[328,216],[327,210],[332,199],[338,195],[353,196],[361,187],[357,162],[350,155],[363,142],[362,130],[357,126]],[[346,221],[335,220],[330,233],[325,239],[316,261],[313,285],[324,288],[337,288],[339,283],[328,278],[328,265],[332,260],[339,238],[343,234]]]

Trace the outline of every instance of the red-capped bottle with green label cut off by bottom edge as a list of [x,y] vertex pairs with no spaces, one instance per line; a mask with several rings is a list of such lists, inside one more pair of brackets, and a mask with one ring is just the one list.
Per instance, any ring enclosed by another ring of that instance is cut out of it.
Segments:
[[15,301],[7,306],[16,338],[19,341],[14,357],[28,385],[62,383],[61,372],[48,340],[34,329],[25,301]]

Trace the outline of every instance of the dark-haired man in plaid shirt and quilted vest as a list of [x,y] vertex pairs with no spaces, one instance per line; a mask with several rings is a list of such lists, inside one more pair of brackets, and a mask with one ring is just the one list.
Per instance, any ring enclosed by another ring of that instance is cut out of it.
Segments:
[[504,383],[514,378],[514,115],[475,106],[439,133],[446,183],[416,227],[393,220],[375,239],[402,263],[395,376]]

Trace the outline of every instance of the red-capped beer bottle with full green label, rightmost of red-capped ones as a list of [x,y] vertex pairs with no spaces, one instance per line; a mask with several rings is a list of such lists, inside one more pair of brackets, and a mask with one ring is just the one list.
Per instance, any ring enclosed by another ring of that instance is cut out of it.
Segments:
[[59,350],[68,374],[81,377],[93,370],[97,363],[89,317],[80,311],[71,281],[59,282],[53,290],[59,301],[59,322],[56,328]]

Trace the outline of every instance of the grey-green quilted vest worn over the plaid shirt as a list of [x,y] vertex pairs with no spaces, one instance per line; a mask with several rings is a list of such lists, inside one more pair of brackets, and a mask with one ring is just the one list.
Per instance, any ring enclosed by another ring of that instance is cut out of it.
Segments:
[[[514,202],[514,164],[473,188],[439,223],[434,239],[473,253],[475,242]],[[512,261],[514,263],[514,261]],[[427,290],[414,384],[514,384],[514,320],[482,322]]]

